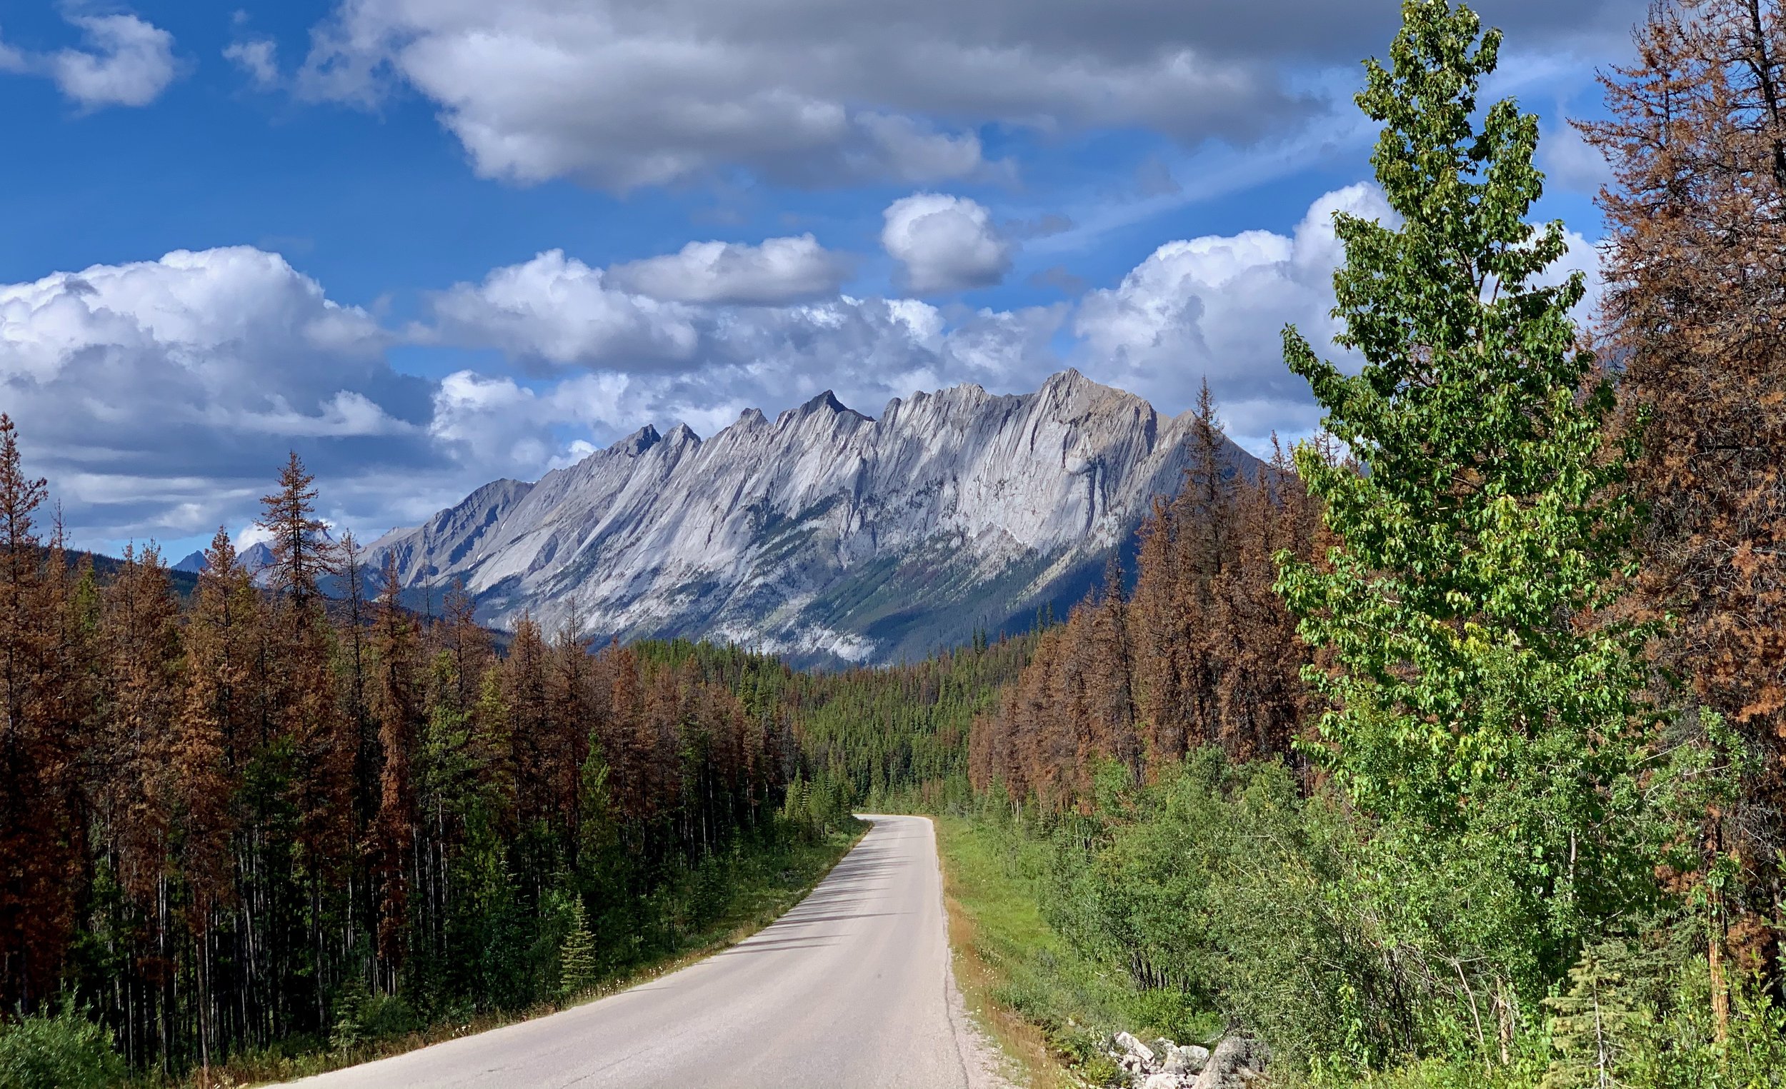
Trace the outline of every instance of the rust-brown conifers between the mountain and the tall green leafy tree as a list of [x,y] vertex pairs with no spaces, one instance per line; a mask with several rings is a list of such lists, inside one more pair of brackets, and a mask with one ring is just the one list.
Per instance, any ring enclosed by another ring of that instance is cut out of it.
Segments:
[[1222,446],[1206,384],[1184,486],[1141,525],[1134,587],[1111,561],[1104,586],[1041,632],[972,728],[977,789],[1057,814],[1091,803],[1106,761],[1141,782],[1202,746],[1293,757],[1311,659],[1273,589],[1275,557],[1313,555],[1318,505],[1282,453],[1248,480]]

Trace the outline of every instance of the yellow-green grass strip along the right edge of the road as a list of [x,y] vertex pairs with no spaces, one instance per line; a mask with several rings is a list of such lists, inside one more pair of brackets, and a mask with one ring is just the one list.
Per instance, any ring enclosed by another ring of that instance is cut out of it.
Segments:
[[1032,1089],[1113,1082],[1118,1071],[1100,1044],[1118,1028],[1147,1028],[1145,998],[1048,927],[1047,844],[956,816],[932,819],[968,1009]]

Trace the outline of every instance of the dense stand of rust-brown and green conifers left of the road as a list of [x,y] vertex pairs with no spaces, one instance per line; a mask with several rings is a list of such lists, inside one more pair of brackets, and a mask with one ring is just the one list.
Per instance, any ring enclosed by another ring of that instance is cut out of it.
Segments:
[[779,662],[530,619],[498,655],[463,591],[416,616],[332,543],[296,455],[263,500],[271,566],[220,530],[184,602],[154,546],[109,577],[71,559],[45,502],[0,416],[13,1014],[73,1002],[179,1071],[352,1039],[380,1002],[520,1009],[672,946],[700,905],[666,889],[786,830]]

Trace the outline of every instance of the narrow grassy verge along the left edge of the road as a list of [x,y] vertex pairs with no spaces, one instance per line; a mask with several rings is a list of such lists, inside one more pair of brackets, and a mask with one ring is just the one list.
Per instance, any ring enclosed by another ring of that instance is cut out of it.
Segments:
[[414,1032],[395,1034],[348,1050],[330,1048],[316,1037],[293,1037],[271,1048],[232,1055],[229,1062],[195,1069],[182,1078],[139,1075],[130,1085],[134,1089],[238,1089],[291,1082],[597,1002],[711,957],[779,919],[804,900],[818,882],[825,880],[832,866],[868,834],[866,823],[857,821],[857,825],[830,832],[818,843],[791,844],[775,855],[741,857],[730,871],[730,896],[718,914],[688,934],[680,948],[648,964],[609,975],[568,1002],[543,1002],[522,1010],[491,1010],[473,1018],[438,1021]]

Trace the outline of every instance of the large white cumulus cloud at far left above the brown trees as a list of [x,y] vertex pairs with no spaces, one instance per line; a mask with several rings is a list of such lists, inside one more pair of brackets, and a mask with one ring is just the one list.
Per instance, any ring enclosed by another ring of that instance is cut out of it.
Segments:
[[320,471],[427,466],[427,382],[389,336],[248,246],[0,286],[0,403],[70,518],[105,537],[236,518],[291,446]]

